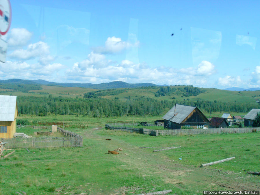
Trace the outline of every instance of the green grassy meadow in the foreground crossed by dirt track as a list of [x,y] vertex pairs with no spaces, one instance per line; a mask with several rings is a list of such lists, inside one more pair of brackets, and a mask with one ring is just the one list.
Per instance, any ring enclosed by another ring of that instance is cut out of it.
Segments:
[[[153,137],[104,129],[108,122],[131,122],[129,117],[19,116],[45,125],[56,122],[61,127],[63,117],[65,129],[83,136],[83,148],[29,148],[30,153],[16,149],[13,155],[1,159],[1,195],[22,191],[27,194],[140,194],[171,189],[172,194],[202,194],[203,190],[259,190],[259,177],[246,174],[259,171],[259,132]],[[157,118],[135,117],[135,121]],[[28,135],[34,131],[17,129]],[[138,148],[141,146],[154,148]],[[181,148],[153,153],[168,146]],[[119,155],[106,154],[118,147],[123,148]],[[235,159],[231,161],[199,167],[232,156]]]

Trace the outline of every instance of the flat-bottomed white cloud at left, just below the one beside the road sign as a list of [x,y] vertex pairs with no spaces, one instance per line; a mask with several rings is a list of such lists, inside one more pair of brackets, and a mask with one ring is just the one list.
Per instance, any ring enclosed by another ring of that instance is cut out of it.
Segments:
[[44,56],[49,54],[49,46],[47,43],[39,41],[34,44],[29,44],[28,48],[18,49],[13,51],[9,57],[19,59],[19,60],[28,60],[39,56]]

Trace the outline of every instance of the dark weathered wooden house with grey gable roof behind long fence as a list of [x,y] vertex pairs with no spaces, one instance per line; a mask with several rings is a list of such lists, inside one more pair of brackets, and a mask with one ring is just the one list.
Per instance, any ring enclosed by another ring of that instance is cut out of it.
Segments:
[[164,116],[164,128],[181,129],[191,127],[200,129],[209,127],[209,119],[194,106],[175,104]]

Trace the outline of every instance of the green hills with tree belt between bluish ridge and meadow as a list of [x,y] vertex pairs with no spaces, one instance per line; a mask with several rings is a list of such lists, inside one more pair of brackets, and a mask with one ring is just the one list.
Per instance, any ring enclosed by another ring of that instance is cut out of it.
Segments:
[[[9,89],[5,88],[9,85]],[[16,89],[17,88],[17,89]],[[32,88],[33,90],[29,90]],[[147,86],[96,90],[25,83],[0,83],[1,95],[16,95],[21,114],[83,114],[96,117],[162,115],[175,103],[203,112],[242,112],[260,108],[260,91],[227,91],[193,86]]]

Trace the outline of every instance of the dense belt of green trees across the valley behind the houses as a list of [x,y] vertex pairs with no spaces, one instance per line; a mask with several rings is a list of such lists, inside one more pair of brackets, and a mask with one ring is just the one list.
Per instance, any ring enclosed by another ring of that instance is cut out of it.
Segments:
[[93,117],[153,115],[164,114],[175,103],[198,107],[202,112],[249,112],[252,108],[260,108],[256,103],[226,103],[219,101],[168,101],[148,97],[125,100],[109,100],[104,98],[67,98],[34,96],[18,96],[18,113],[47,116],[49,113],[68,115],[83,114]]

